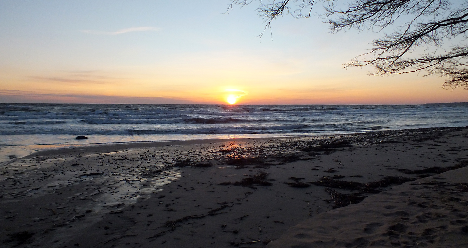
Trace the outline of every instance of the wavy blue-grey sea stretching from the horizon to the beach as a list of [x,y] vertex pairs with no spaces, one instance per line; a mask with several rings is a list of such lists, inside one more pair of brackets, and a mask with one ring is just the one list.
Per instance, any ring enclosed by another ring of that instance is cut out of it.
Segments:
[[[0,103],[0,163],[34,151],[113,143],[317,136],[468,126],[468,103],[151,105]],[[76,140],[84,135],[85,140]]]

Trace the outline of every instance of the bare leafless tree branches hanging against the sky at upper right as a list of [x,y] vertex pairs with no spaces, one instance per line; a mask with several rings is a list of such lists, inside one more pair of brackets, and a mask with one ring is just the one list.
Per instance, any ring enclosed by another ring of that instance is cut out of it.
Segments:
[[[258,3],[265,29],[277,17],[308,18],[315,5],[331,32],[347,29],[386,31],[373,48],[346,67],[375,67],[373,75],[426,72],[445,77],[444,88],[468,89],[468,2],[466,0],[230,0]],[[323,6],[323,8],[321,8]],[[260,35],[260,36],[261,36]]]

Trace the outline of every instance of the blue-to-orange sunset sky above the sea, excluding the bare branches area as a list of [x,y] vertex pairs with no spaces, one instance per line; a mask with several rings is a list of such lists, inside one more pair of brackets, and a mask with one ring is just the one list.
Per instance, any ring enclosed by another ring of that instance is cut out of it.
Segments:
[[468,102],[438,76],[343,68],[382,33],[284,16],[260,39],[257,6],[229,2],[0,0],[0,102]]

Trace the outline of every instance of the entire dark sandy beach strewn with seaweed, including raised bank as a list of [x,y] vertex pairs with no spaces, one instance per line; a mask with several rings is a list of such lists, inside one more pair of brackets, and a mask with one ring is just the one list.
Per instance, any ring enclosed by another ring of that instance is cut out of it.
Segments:
[[431,128],[42,151],[1,165],[0,244],[466,247],[467,141]]

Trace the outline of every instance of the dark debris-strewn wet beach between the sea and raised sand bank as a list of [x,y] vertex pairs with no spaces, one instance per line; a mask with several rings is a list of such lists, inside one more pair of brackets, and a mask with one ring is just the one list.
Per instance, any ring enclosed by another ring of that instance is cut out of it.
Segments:
[[[335,211],[330,192],[364,197],[365,203],[396,185],[326,191],[316,185],[324,177],[361,185],[385,177],[417,180],[436,173],[407,172],[463,164],[467,140],[468,128],[454,127],[39,152],[1,168],[0,234],[7,238],[0,242],[273,246],[304,219]],[[466,224],[449,225],[459,230]]]

